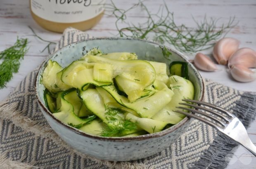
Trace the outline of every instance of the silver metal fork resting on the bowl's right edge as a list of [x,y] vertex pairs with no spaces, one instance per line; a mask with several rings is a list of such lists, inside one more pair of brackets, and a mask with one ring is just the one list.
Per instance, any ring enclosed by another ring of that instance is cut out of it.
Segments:
[[[204,101],[196,101],[196,100],[190,100],[190,99],[183,99],[183,101],[186,101],[186,103],[179,103],[179,104],[193,107],[196,109],[177,106],[176,108],[183,109],[183,111],[174,110],[176,113],[181,113],[189,117],[195,118],[197,120],[200,120],[206,124],[209,124],[210,126],[216,128],[218,131],[232,138],[237,143],[240,143],[242,146],[247,148],[247,150],[249,150],[253,155],[256,156],[256,146],[254,145],[254,143],[251,142],[251,139],[249,138],[244,125],[237,117],[235,117],[235,115],[233,115],[232,113],[230,113],[229,111],[221,107],[218,107],[210,103],[206,103]],[[194,103],[196,103],[197,105]],[[216,111],[206,107],[202,107],[200,105],[207,106]],[[187,113],[184,110],[188,110],[192,113]],[[205,110],[209,112],[209,114],[199,110]],[[199,116],[198,114],[202,116]],[[213,115],[215,115],[215,117]],[[208,117],[208,119],[205,117]],[[209,119],[211,119],[212,121]]]

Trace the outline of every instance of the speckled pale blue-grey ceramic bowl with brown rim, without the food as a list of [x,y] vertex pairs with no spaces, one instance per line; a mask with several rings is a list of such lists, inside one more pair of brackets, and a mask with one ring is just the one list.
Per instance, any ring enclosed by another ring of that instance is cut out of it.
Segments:
[[[174,143],[180,134],[190,124],[190,119],[185,117],[182,121],[164,131],[154,134],[146,134],[135,137],[102,137],[93,136],[79,131],[55,118],[45,106],[43,92],[45,87],[40,84],[40,75],[43,73],[45,65],[49,59],[57,61],[62,67],[68,66],[72,61],[79,59],[86,51],[93,47],[99,47],[104,53],[110,52],[135,52],[138,59],[164,62],[167,65],[171,61],[185,61],[185,56],[180,52],[168,49],[171,57],[166,59],[163,55],[163,45],[146,40],[130,38],[95,38],[81,42],[76,42],[52,54],[44,63],[42,63],[36,78],[36,96],[40,109],[52,129],[74,149],[109,161],[130,161],[149,157],[161,152]],[[195,87],[195,99],[202,100],[204,92],[204,83],[194,66],[188,62],[189,78]]]

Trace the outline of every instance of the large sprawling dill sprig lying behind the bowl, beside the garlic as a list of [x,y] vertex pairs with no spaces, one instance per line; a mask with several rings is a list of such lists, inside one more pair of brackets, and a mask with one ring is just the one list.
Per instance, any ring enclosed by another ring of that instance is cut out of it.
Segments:
[[[115,24],[120,37],[151,39],[161,44],[173,45],[179,51],[186,53],[211,48],[219,38],[225,36],[223,33],[228,33],[237,24],[234,23],[235,17],[230,17],[227,23],[219,27],[217,26],[219,19],[206,19],[205,16],[202,22],[197,22],[192,17],[197,25],[196,28],[190,28],[184,24],[178,25],[173,12],[169,11],[165,3],[155,14],[149,11],[143,1],[139,1],[128,9],[120,9],[111,0],[105,7],[110,12],[110,16],[116,17]],[[129,20],[129,12],[137,7],[146,12],[146,21],[136,25],[127,20]]]

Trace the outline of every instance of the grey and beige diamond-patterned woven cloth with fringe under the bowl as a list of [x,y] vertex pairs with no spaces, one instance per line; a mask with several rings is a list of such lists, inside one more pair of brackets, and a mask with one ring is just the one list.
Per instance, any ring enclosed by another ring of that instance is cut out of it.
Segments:
[[[73,28],[64,31],[55,51],[89,38]],[[228,165],[237,144],[215,129],[193,120],[166,150],[145,159],[109,162],[84,155],[62,141],[50,128],[36,101],[34,70],[0,103],[0,168],[213,168]],[[237,115],[248,127],[256,114],[256,93],[241,92],[205,80],[205,101]]]

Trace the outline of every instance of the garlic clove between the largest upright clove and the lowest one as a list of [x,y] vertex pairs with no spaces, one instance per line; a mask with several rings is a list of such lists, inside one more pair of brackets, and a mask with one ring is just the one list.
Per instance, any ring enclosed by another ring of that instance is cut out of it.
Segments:
[[256,68],[256,52],[250,48],[241,48],[232,54],[228,60],[228,67],[232,65],[243,65],[247,68]]

